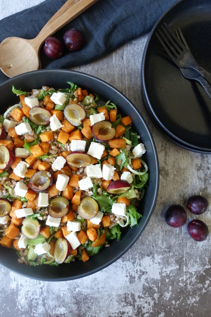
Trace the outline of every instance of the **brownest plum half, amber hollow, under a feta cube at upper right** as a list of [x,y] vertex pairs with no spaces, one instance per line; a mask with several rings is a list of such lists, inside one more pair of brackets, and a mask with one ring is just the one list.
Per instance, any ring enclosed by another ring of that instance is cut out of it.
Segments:
[[96,141],[106,142],[115,137],[116,130],[112,127],[111,122],[104,120],[94,124],[92,133]]

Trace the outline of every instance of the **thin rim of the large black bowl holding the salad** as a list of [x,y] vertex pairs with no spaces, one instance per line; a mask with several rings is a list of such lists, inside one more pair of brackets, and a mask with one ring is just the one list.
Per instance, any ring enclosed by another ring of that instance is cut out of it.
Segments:
[[152,213],[155,209],[155,206],[156,206],[156,202],[157,202],[157,197],[158,197],[158,189],[159,189],[159,161],[158,161],[158,154],[157,154],[157,150],[156,150],[156,146],[155,146],[155,142],[154,142],[154,139],[152,137],[152,133],[150,132],[144,118],[142,117],[142,115],[140,114],[139,110],[133,105],[133,103],[124,95],[122,94],[118,89],[116,89],[114,86],[110,85],[109,83],[107,83],[106,81],[103,81],[102,79],[96,77],[96,76],[93,76],[93,75],[90,75],[90,74],[86,74],[86,73],[83,73],[83,72],[80,72],[80,71],[76,71],[76,70],[68,70],[68,69],[39,69],[39,70],[35,70],[35,71],[31,71],[31,72],[27,72],[27,73],[23,73],[23,74],[20,74],[20,75],[17,75],[15,77],[12,77],[12,78],[9,78],[8,80],[4,81],[2,84],[0,84],[0,88],[3,87],[5,84],[8,84],[8,83],[12,83],[14,80],[16,80],[16,78],[22,78],[22,77],[25,77],[25,76],[30,76],[30,75],[33,75],[34,73],[45,73],[48,72],[48,73],[54,73],[54,72],[58,72],[58,73],[71,73],[71,74],[80,74],[84,77],[86,77],[87,79],[89,78],[92,78],[92,79],[95,79],[97,82],[100,82],[101,84],[103,85],[106,85],[107,87],[109,87],[110,89],[114,90],[121,98],[123,98],[124,100],[126,100],[127,103],[130,104],[130,107],[133,109],[133,111],[136,113],[136,115],[141,119],[141,121],[143,122],[144,126],[145,126],[145,129],[148,133],[148,136],[149,136],[149,140],[151,142],[151,145],[152,145],[152,153],[153,153],[153,156],[154,156],[154,159],[155,159],[155,175],[156,175],[156,182],[154,184],[154,195],[153,195],[153,201],[152,201],[152,205],[151,205],[151,208],[148,212],[148,216],[146,217],[146,220],[145,220],[145,223],[143,223],[143,226],[141,227],[141,229],[139,230],[139,233],[130,240],[130,242],[128,243],[127,247],[124,248],[120,253],[118,253],[117,256],[114,256],[113,259],[105,262],[103,265],[99,266],[98,268],[94,268],[94,269],[91,269],[89,270],[89,272],[84,272],[80,275],[75,275],[74,277],[64,277],[64,278],[61,278],[61,277],[54,277],[54,278],[39,278],[37,277],[36,275],[35,276],[31,276],[30,274],[20,274],[19,272],[17,272],[17,270],[11,268],[11,267],[8,267],[7,265],[3,265],[1,262],[0,262],[0,265],[3,266],[4,268],[7,268],[9,269],[10,271],[18,274],[18,275],[21,275],[23,277],[28,277],[28,278],[31,278],[31,279],[35,279],[35,280],[39,280],[39,281],[55,281],[55,282],[58,282],[58,281],[70,281],[70,280],[75,280],[75,279],[79,279],[79,278],[82,278],[82,277],[85,277],[85,276],[88,276],[88,275],[92,275],[98,271],[101,271],[102,269],[108,267],[109,265],[111,265],[112,263],[114,263],[115,261],[117,261],[121,256],[123,256],[132,246],[133,244],[139,239],[141,233],[144,231],[144,229],[146,228],[146,225],[147,223],[149,222],[149,219],[151,218],[152,216]]

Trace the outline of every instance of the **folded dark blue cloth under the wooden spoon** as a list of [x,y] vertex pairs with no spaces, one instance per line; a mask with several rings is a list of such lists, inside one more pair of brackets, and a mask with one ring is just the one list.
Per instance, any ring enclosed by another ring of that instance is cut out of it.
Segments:
[[[42,68],[71,68],[109,54],[120,45],[149,32],[158,18],[177,0],[99,0],[68,23],[54,36],[63,38],[66,30],[78,29],[84,46],[53,61],[40,49]],[[0,21],[0,42],[6,37],[33,39],[65,0],[46,0]],[[11,48],[12,49],[12,48]],[[8,79],[0,71],[0,83]]]

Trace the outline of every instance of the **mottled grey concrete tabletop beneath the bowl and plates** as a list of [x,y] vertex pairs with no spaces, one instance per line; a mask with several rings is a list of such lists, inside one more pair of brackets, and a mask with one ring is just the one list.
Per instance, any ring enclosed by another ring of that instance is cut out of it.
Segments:
[[[0,0],[0,19],[40,0]],[[185,205],[193,194],[210,203],[211,155],[186,151],[154,126],[141,100],[141,56],[147,35],[126,43],[113,54],[74,68],[119,89],[140,110],[155,140],[160,188],[155,211],[133,247],[104,270],[69,282],[23,278],[0,267],[0,316],[3,317],[175,317],[211,315],[211,234],[192,240],[187,228],[164,222],[172,203]],[[196,218],[211,231],[211,208]],[[188,218],[194,215],[188,212]]]

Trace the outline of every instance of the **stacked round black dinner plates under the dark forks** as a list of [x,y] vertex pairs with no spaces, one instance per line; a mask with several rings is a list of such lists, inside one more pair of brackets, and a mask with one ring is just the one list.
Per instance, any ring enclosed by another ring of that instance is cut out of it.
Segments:
[[156,23],[142,60],[142,93],[147,110],[178,145],[211,151],[211,99],[171,61],[155,32],[166,22],[180,28],[195,60],[211,73],[211,1],[181,0]]

